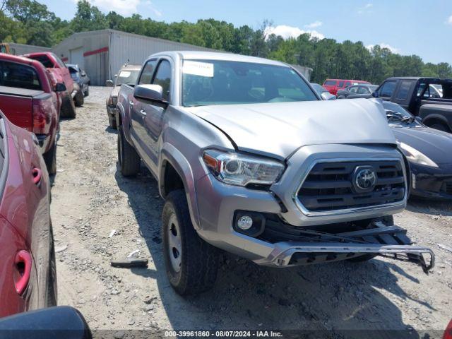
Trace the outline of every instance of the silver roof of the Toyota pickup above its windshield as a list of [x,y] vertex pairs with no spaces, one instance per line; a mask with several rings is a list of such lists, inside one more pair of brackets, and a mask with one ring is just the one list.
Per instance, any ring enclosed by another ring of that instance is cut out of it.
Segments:
[[178,55],[181,59],[239,61],[239,62],[252,62],[254,64],[266,64],[289,67],[287,64],[284,64],[283,62],[280,61],[222,52],[174,51],[174,52],[160,52],[157,54],[153,54],[152,56],[156,57],[158,55],[170,55],[174,57]]

